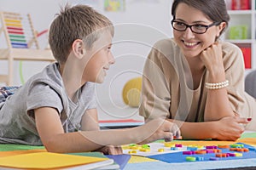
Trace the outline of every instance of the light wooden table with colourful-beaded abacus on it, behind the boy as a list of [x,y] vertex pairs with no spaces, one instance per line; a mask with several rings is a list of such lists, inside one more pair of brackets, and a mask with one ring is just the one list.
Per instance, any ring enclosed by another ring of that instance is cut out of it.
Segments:
[[55,61],[49,49],[39,48],[30,14],[0,12],[0,20],[0,36],[3,33],[6,41],[6,47],[0,43],[0,59],[8,61],[8,74],[0,75],[0,82],[13,85],[15,60]]

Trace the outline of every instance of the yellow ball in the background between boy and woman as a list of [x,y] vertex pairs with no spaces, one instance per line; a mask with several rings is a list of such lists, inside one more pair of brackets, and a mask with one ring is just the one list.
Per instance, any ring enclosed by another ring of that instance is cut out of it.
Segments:
[[142,91],[143,77],[132,78],[125,83],[123,88],[123,99],[126,105],[138,107]]

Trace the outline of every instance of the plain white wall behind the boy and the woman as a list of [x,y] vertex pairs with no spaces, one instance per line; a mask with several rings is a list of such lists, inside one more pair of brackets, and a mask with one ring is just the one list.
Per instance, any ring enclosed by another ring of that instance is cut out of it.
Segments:
[[[31,14],[37,31],[49,28],[60,6],[67,2],[90,4],[100,13],[113,21],[115,37],[113,39],[113,54],[115,65],[108,71],[106,81],[97,86],[99,102],[111,103],[108,106],[124,108],[122,102],[122,88],[131,77],[142,75],[143,64],[151,46],[160,38],[172,37],[170,25],[172,0],[125,0],[125,10],[121,12],[107,12],[104,10],[103,0],[0,0],[0,10]],[[41,48],[46,47],[47,36],[39,37]],[[3,37],[0,48],[3,47]],[[15,63],[15,84],[20,84],[19,62]],[[47,62],[23,62],[22,75],[31,77],[41,71]],[[0,71],[7,71],[4,62],[0,61]],[[108,89],[108,90],[107,90]],[[108,108],[102,108],[108,112]],[[113,112],[113,111],[112,111]],[[119,111],[120,112],[120,111]]]

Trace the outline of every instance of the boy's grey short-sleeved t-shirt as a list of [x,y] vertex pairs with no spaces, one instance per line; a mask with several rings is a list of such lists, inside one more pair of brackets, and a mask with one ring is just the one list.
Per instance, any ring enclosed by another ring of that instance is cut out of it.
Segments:
[[79,130],[84,112],[96,108],[94,90],[95,84],[86,82],[74,103],[67,96],[58,63],[46,66],[0,103],[0,143],[42,145],[33,112],[40,107],[55,108],[66,133]]

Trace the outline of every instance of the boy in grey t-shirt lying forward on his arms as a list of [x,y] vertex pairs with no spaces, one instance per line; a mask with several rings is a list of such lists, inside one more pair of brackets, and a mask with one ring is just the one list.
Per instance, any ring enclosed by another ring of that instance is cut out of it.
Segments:
[[[161,119],[141,127],[99,129],[92,82],[103,82],[114,63],[112,38],[113,24],[94,9],[62,9],[49,29],[57,62],[0,103],[0,142],[44,144],[48,151],[66,153],[179,136],[177,125]],[[108,154],[121,151],[109,148]]]

